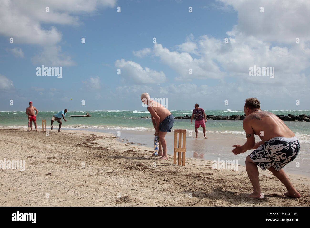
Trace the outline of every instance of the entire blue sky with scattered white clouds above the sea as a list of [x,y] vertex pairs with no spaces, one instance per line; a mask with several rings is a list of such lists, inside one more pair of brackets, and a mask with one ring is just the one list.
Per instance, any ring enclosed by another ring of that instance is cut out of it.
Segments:
[[0,111],[146,110],[143,92],[169,110],[249,97],[309,110],[309,12],[308,0],[0,0]]

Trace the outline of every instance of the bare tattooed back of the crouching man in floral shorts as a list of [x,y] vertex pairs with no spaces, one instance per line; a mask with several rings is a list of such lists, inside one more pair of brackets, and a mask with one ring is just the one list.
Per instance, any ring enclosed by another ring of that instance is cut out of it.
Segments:
[[255,111],[244,120],[249,121],[255,135],[262,141],[269,141],[274,137],[294,137],[294,133],[275,114],[266,111]]

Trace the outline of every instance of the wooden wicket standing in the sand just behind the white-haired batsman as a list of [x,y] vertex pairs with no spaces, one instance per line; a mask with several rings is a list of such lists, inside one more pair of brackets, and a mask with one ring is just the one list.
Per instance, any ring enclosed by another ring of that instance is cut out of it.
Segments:
[[[179,133],[179,145],[177,147],[177,137]],[[182,133],[183,133],[183,145],[182,145]],[[175,129],[175,136],[174,136],[174,150],[173,150],[173,164],[176,164],[176,154],[179,153],[178,156],[178,165],[185,165],[185,139],[186,139],[186,129]],[[182,159],[181,159],[181,153],[182,153]]]

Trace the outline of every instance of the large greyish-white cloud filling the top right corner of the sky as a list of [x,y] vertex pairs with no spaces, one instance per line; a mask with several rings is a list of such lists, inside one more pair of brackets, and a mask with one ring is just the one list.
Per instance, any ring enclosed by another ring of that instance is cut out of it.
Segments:
[[[310,1],[290,0],[220,0],[238,13],[238,24],[229,35],[243,33],[264,42],[295,45],[310,40]],[[264,7],[264,12],[260,12]]]

